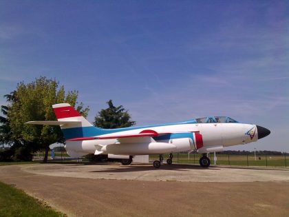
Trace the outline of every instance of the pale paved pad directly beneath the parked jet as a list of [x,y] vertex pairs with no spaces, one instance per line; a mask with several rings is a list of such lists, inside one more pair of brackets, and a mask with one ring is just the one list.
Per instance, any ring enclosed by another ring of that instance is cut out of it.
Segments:
[[25,165],[25,172],[72,178],[104,178],[114,180],[162,180],[180,182],[264,182],[289,181],[289,169],[209,167],[194,165]]

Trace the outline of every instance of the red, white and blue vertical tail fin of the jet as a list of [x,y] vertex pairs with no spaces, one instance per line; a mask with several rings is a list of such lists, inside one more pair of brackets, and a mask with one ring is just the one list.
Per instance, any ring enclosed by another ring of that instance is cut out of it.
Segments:
[[98,136],[101,134],[102,130],[100,128],[94,127],[68,103],[55,104],[52,105],[52,108],[59,122],[75,121],[75,123],[61,125],[65,139]]

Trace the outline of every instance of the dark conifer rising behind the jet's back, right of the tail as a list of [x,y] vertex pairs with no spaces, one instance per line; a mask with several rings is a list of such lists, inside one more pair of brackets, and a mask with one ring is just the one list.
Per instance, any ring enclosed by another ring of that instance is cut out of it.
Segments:
[[111,99],[107,102],[109,107],[98,112],[94,118],[94,125],[105,129],[115,129],[122,127],[131,127],[136,124],[130,121],[131,116],[122,105],[115,107]]

